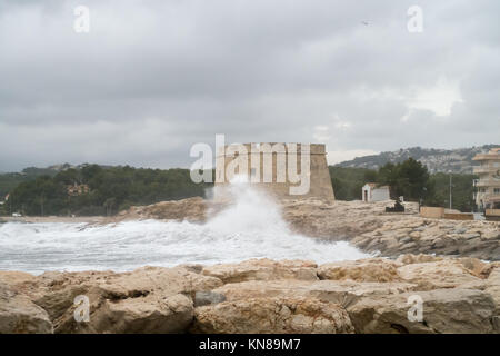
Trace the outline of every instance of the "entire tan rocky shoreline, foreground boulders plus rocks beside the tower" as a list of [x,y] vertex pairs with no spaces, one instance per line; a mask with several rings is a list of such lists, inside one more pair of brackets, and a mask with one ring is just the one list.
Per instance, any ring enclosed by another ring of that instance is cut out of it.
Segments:
[[[384,214],[389,204],[281,206],[292,230],[384,258],[0,271],[0,333],[500,333],[500,222],[421,218],[411,204],[408,214]],[[226,206],[191,198],[100,224],[203,222]],[[88,322],[76,319],[82,296]],[[417,320],[409,317],[416,300]]]

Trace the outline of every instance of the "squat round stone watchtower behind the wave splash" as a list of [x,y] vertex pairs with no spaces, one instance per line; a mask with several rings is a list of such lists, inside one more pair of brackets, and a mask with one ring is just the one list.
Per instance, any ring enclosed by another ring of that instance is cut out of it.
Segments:
[[[278,199],[317,198],[333,201],[324,145],[240,144],[219,147],[216,158],[216,199],[234,178]],[[218,192],[219,191],[219,192]]]

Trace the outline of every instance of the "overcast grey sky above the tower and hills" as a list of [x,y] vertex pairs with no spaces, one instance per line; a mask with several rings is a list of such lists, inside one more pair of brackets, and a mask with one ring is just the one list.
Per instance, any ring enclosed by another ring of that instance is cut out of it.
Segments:
[[[89,33],[73,29],[80,4]],[[407,29],[413,4],[423,32]],[[498,0],[0,0],[0,171],[189,167],[216,134],[324,142],[330,162],[498,144],[499,13]]]

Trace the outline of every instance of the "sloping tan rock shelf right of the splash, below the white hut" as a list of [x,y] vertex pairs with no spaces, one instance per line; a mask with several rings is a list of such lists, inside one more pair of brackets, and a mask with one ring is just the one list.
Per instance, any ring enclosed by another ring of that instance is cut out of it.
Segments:
[[283,207],[297,231],[327,239],[344,239],[363,251],[381,256],[436,254],[500,260],[500,222],[422,218],[413,214],[386,214],[391,202],[363,204],[296,201]]

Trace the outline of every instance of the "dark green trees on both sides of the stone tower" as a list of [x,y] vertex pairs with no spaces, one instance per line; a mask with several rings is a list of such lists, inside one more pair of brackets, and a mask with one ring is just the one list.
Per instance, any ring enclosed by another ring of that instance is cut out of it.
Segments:
[[[361,199],[366,182],[389,185],[391,196],[406,200],[423,199],[428,206],[449,207],[449,175],[430,175],[412,158],[387,164],[379,170],[329,167],[336,198]],[[471,211],[473,175],[452,175],[452,207]],[[163,200],[204,197],[204,188],[191,181],[188,169],[142,169],[97,165],[69,165],[56,168],[27,168],[21,174],[0,175],[0,215],[14,211],[31,216],[48,215],[113,215],[132,205],[149,205]],[[77,191],[69,194],[69,187]]]

